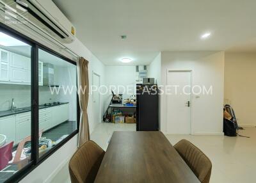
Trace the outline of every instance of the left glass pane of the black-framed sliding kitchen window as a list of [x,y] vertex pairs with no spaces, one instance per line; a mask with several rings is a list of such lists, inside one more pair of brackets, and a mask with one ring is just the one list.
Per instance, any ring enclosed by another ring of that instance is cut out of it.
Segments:
[[31,45],[0,31],[0,182],[31,162]]

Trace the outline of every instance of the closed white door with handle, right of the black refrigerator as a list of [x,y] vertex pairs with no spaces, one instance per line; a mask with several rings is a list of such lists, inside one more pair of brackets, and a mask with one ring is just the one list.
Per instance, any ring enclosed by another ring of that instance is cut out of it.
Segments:
[[168,71],[167,85],[167,132],[168,134],[190,134],[191,72]]

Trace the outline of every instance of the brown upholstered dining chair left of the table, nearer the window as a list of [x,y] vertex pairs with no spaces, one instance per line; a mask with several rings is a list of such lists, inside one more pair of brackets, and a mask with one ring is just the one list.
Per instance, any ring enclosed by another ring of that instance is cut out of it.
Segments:
[[94,182],[104,154],[104,150],[94,141],[87,141],[79,147],[68,165],[71,182]]

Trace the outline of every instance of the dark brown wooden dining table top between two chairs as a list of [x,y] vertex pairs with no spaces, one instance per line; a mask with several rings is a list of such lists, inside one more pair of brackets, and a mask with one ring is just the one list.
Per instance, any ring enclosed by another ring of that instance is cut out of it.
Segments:
[[95,182],[200,181],[162,132],[114,132]]

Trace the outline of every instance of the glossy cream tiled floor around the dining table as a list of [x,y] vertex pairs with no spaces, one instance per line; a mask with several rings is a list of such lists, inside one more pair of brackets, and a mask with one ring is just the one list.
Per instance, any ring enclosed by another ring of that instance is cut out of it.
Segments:
[[[113,131],[135,129],[135,124],[99,123],[91,138],[106,150]],[[211,183],[255,182],[256,128],[245,128],[239,133],[251,138],[190,135],[166,135],[166,138],[172,145],[188,139],[200,148],[212,161]]]

